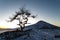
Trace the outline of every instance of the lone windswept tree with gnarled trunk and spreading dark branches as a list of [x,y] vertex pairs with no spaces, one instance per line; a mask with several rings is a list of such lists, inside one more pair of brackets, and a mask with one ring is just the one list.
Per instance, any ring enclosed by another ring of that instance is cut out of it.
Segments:
[[27,24],[29,17],[35,18],[36,16],[31,15],[31,13],[28,10],[21,8],[18,12],[16,12],[13,18],[10,18],[9,22],[12,22],[15,19],[18,20],[19,24],[17,25],[19,25],[20,30],[23,31],[23,29],[25,28],[25,24]]

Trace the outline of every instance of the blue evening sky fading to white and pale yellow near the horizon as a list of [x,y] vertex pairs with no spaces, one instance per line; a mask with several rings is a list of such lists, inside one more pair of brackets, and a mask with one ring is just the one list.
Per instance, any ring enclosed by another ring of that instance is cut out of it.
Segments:
[[60,0],[0,0],[0,28],[17,26],[16,20],[11,23],[7,23],[6,20],[22,7],[28,9],[32,15],[38,15],[29,22],[36,23],[43,20],[60,26]]

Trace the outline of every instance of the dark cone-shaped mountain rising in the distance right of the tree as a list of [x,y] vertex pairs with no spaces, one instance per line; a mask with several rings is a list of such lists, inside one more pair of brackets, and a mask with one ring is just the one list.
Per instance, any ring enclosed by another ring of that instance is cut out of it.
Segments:
[[[60,29],[60,27],[50,24],[45,21],[38,21],[36,24],[28,26],[29,28],[40,28],[40,29]],[[28,28],[27,27],[27,28]]]

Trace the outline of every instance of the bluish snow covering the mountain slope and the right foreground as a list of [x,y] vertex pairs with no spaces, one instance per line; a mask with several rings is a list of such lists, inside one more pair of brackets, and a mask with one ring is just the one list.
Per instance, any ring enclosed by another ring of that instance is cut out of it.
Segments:
[[[59,32],[60,30],[51,29],[51,28],[50,29],[40,29],[45,25],[48,25],[47,27],[49,27],[49,28],[50,28],[50,26],[55,28],[55,26],[48,24],[46,22],[38,22],[34,25],[27,26],[24,29],[25,31],[28,30],[28,31],[26,31],[26,33],[25,32],[23,32],[23,33],[16,32],[17,34],[20,33],[20,34],[24,34],[24,35],[14,38],[12,40],[60,40],[60,38],[55,38],[55,35],[60,35],[60,32]],[[0,36],[0,40],[2,40],[1,36]]]

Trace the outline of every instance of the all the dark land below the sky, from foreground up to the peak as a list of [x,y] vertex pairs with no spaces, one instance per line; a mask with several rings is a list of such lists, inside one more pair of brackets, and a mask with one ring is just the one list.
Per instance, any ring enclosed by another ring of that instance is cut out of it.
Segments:
[[24,31],[13,30],[0,34],[0,40],[60,40],[55,35],[60,35],[60,27],[39,21],[27,26]]

